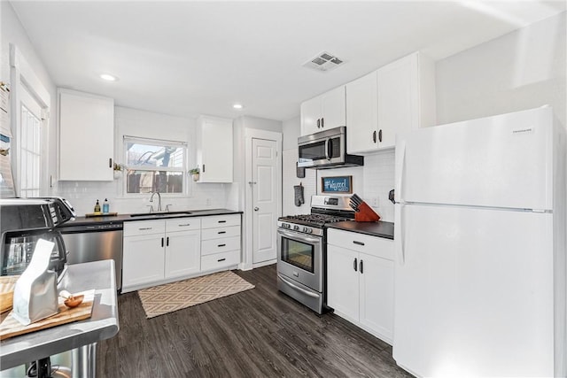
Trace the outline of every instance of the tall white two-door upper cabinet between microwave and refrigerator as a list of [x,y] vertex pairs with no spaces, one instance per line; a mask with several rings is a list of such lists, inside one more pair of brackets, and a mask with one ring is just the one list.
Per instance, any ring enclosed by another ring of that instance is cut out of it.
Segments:
[[435,64],[420,52],[346,84],[349,153],[392,148],[399,132],[435,124]]

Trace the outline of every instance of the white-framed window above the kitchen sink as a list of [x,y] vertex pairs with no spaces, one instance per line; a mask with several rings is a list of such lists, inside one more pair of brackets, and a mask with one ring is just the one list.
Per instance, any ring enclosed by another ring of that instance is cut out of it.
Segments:
[[124,136],[126,194],[185,193],[187,144]]

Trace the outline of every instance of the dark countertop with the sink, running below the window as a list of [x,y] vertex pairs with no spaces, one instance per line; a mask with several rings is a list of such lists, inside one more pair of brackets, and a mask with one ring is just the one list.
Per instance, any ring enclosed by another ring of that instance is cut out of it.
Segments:
[[[190,213],[188,213],[190,212]],[[186,218],[186,217],[207,217],[213,215],[226,215],[226,214],[241,214],[235,210],[229,209],[209,209],[209,210],[187,210],[183,213],[163,214],[163,215],[142,215],[131,217],[130,214],[119,214],[114,216],[100,216],[100,217],[76,217],[74,220],[69,220],[61,226],[61,228],[73,227],[73,226],[84,226],[89,224],[114,224],[123,223],[125,221],[132,220],[163,220],[169,218]]]

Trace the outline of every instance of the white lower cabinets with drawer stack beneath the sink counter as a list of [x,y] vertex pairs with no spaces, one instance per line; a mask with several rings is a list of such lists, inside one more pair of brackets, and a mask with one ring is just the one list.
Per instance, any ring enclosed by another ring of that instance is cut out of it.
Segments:
[[240,263],[240,214],[125,222],[123,247],[123,293],[220,271]]

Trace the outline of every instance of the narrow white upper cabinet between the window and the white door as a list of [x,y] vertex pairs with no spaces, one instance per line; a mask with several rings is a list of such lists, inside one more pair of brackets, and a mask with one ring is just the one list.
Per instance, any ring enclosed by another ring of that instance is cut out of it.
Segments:
[[232,182],[232,120],[200,116],[197,126],[198,182]]

